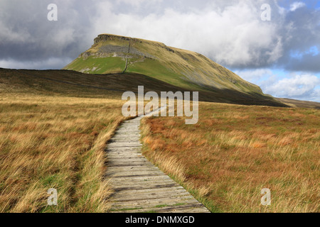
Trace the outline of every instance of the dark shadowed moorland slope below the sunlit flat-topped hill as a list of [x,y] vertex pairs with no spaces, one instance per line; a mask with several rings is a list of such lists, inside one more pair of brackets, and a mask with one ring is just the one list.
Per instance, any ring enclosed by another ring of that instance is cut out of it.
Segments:
[[[195,91],[144,74],[85,74],[71,70],[10,70],[0,68],[0,94],[24,93],[121,99],[126,91],[137,92]],[[247,94],[235,89],[198,90],[199,101],[229,104],[286,106],[263,94]]]

